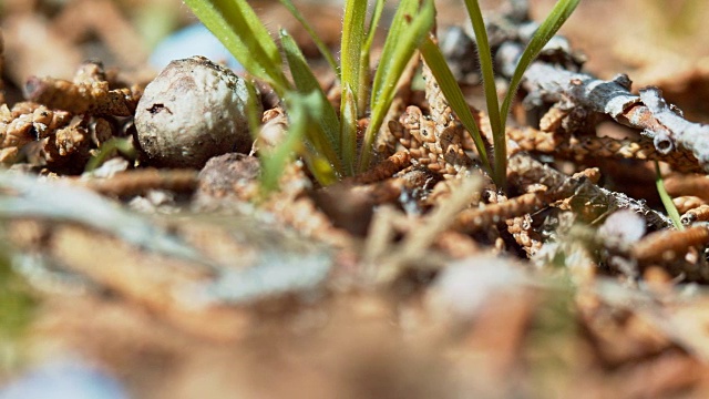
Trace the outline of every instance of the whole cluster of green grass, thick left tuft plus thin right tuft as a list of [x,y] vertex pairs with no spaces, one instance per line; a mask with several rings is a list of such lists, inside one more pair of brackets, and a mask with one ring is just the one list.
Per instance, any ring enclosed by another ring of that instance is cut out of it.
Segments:
[[[281,144],[261,153],[264,185],[267,190],[277,188],[279,171],[294,154],[302,156],[311,173],[323,185],[367,171],[372,160],[373,143],[391,106],[397,83],[417,50],[423,55],[451,108],[473,137],[487,172],[497,186],[504,188],[505,122],[522,74],[571,16],[579,0],[557,1],[521,57],[502,106],[499,104],[493,62],[480,6],[476,0],[465,0],[482,66],[494,137],[494,164],[490,162],[479,126],[461,89],[432,38],[431,31],[435,22],[433,0],[399,2],[373,79],[370,75],[370,50],[384,0],[376,1],[369,19],[367,1],[346,1],[339,64],[292,2],[280,0],[310,33],[337,73],[341,90],[339,112],[328,102],[295,40],[287,31],[280,30],[278,45],[246,0],[185,2],[248,73],[267,82],[282,99],[290,126],[288,136]],[[279,49],[282,50],[285,60]],[[285,68],[289,69],[292,81],[284,72]],[[357,121],[363,116],[369,116],[370,120],[359,141]],[[254,120],[253,125],[257,124],[258,121]]]

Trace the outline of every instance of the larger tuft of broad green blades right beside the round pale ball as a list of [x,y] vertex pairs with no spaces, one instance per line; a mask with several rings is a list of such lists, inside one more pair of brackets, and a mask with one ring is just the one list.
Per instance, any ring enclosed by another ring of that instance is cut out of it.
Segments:
[[[399,3],[370,91],[370,49],[384,0],[376,2],[368,27],[367,2],[346,2],[339,65],[292,2],[281,0],[304,24],[337,73],[342,99],[338,115],[292,38],[280,31],[285,63],[278,44],[246,0],[185,2],[245,70],[268,83],[285,104],[290,123],[288,136],[279,147],[265,150],[261,154],[266,188],[276,187],[280,170],[292,152],[305,158],[322,185],[366,171],[373,139],[391,106],[399,78],[434,21],[433,0],[424,0],[422,4],[419,0]],[[286,65],[292,82],[284,73]],[[367,114],[371,114],[371,122],[363,143],[359,143],[357,122]]]

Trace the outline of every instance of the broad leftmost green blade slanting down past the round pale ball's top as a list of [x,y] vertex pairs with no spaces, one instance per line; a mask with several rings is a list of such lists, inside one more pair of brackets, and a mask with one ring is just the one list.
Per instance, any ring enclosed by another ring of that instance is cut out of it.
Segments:
[[290,86],[276,42],[246,0],[185,0],[202,23],[217,37],[251,75],[279,95]]

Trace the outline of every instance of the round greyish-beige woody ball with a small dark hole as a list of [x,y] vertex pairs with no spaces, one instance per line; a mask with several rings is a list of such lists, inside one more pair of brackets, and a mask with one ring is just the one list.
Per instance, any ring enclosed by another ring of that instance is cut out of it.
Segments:
[[242,78],[204,57],[172,61],[145,88],[135,112],[148,163],[199,168],[215,155],[248,153],[248,95]]

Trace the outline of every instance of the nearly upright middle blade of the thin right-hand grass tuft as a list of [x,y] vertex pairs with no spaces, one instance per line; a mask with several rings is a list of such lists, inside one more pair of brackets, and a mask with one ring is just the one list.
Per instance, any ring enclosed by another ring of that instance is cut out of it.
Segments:
[[[487,115],[492,129],[493,144],[495,151],[495,167],[493,171],[494,181],[500,188],[505,188],[506,178],[506,137],[504,124],[500,116],[500,102],[497,100],[497,88],[495,85],[494,63],[490,51],[487,31],[483,14],[477,0],[465,0],[467,14],[475,32],[475,43],[477,44],[477,58],[483,78],[483,90],[485,91],[485,103],[487,104]],[[506,114],[505,114],[506,115]]]

